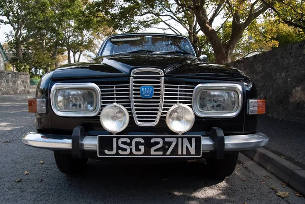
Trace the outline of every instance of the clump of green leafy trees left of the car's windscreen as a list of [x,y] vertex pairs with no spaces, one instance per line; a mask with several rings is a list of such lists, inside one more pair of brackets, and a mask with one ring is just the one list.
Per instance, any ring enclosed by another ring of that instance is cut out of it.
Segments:
[[90,14],[86,9],[90,4],[86,0],[0,1],[0,16],[6,17],[0,24],[10,24],[14,31],[7,34],[7,42],[15,50],[11,62],[16,70],[48,72],[67,60],[66,51],[69,63],[72,53],[76,62],[85,50],[94,51],[96,40],[112,30],[103,14]]

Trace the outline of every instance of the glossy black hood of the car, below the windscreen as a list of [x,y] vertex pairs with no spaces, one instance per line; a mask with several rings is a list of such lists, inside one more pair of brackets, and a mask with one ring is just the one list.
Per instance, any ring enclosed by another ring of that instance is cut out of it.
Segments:
[[97,57],[90,63],[68,64],[54,70],[53,79],[128,77],[135,68],[164,70],[167,77],[234,79],[245,77],[230,66],[202,63],[198,57],[163,54],[124,54]]

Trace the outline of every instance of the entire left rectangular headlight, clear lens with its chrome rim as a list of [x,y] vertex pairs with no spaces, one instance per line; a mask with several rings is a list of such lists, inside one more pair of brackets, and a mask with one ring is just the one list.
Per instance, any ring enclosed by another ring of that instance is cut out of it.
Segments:
[[100,111],[100,96],[95,83],[55,83],[51,105],[60,116],[94,116]]

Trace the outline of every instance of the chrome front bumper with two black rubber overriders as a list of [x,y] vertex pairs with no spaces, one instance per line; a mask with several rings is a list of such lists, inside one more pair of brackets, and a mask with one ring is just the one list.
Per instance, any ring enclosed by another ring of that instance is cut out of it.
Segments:
[[[115,136],[119,137],[120,135]],[[126,137],[131,135],[121,136]],[[155,136],[158,137],[157,135]],[[142,137],[145,137],[145,135]],[[202,153],[215,152],[216,158],[222,158],[225,152],[245,151],[263,147],[268,144],[268,140],[269,138],[261,132],[246,135],[224,136],[222,129],[211,128],[209,136],[201,137],[201,151]],[[81,158],[84,152],[98,151],[97,136],[85,135],[83,127],[74,128],[72,135],[29,132],[22,137],[22,142],[26,145],[41,149],[71,151],[74,158]]]

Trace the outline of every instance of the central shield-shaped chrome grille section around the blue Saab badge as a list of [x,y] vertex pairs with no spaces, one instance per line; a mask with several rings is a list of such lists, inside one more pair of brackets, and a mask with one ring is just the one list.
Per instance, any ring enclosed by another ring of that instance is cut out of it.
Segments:
[[[131,109],[138,126],[155,126],[158,124],[163,107],[164,74],[160,69],[139,68],[131,73]],[[142,98],[140,87],[154,86],[153,98]]]

